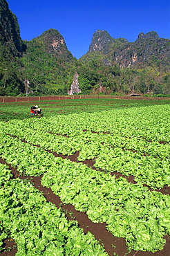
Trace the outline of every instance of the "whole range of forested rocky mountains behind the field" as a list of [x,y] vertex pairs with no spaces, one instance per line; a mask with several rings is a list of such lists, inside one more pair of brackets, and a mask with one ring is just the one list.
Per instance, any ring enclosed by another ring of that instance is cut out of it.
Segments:
[[77,60],[50,28],[23,42],[17,17],[0,3],[0,95],[67,94],[77,73],[82,93],[170,94],[170,40],[155,31],[135,42],[97,30]]

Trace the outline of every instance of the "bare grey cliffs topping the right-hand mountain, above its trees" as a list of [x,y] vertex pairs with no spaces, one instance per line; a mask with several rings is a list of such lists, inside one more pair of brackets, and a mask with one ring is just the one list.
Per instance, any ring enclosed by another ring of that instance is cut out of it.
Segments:
[[[170,40],[160,38],[155,31],[140,33],[138,39],[130,43],[124,38],[112,38],[105,30],[97,30],[87,55],[96,52],[104,54],[105,62],[110,60],[121,68],[148,66],[151,62],[170,64]],[[84,60],[84,56],[81,60]]]

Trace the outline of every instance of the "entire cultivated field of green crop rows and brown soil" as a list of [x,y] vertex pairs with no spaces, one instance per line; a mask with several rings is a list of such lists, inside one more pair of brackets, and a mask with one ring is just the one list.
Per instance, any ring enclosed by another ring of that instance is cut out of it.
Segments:
[[1,255],[168,256],[169,100],[38,104],[0,105]]

